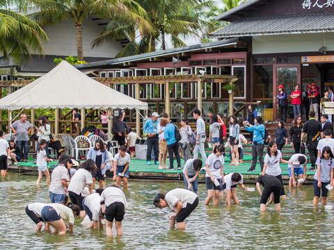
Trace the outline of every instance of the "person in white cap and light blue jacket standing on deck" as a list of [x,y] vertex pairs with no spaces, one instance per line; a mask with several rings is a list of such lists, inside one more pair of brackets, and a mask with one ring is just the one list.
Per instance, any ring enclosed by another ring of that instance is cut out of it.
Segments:
[[151,164],[151,153],[154,150],[154,164],[159,164],[159,133],[158,133],[158,118],[157,112],[152,113],[151,119],[145,122],[144,133],[147,136],[146,144],[148,144],[148,152],[146,153],[146,160],[148,165]]

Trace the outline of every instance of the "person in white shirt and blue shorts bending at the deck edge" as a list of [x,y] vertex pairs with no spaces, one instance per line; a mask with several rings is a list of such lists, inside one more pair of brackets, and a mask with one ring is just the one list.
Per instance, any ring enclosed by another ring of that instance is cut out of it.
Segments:
[[303,181],[300,181],[298,185],[296,185],[296,179],[294,175],[297,175],[299,179],[306,179],[306,163],[308,162],[308,158],[302,153],[295,153],[289,159],[289,188],[300,188],[303,185]]

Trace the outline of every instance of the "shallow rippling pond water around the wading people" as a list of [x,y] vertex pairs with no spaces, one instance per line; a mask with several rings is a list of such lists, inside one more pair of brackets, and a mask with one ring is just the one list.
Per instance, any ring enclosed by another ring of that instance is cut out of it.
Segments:
[[[110,183],[110,181],[109,181]],[[205,207],[205,185],[199,186],[200,205],[187,219],[186,231],[169,230],[167,208],[154,208],[157,192],[182,188],[183,183],[133,181],[125,193],[129,203],[122,238],[106,239],[104,231],[88,230],[80,219],[74,233],[58,236],[33,233],[24,208],[49,202],[47,186],[35,186],[35,176],[9,173],[0,179],[2,232],[0,249],[334,249],[333,215],[312,207],[312,186],[287,191],[281,213],[259,212],[257,192],[238,190],[240,206]],[[287,187],[285,187],[287,189]],[[331,192],[328,203],[333,203]]]

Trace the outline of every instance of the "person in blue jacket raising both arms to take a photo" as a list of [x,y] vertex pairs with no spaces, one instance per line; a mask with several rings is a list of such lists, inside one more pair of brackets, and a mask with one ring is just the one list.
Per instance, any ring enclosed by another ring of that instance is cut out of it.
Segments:
[[266,130],[264,125],[262,124],[262,117],[257,116],[254,119],[254,125],[250,124],[249,122],[244,122],[244,126],[246,131],[253,132],[253,144],[252,144],[252,165],[248,171],[254,171],[257,163],[257,157],[260,161],[261,171],[264,166],[263,161],[263,149],[264,149],[264,140],[267,138],[265,137]]

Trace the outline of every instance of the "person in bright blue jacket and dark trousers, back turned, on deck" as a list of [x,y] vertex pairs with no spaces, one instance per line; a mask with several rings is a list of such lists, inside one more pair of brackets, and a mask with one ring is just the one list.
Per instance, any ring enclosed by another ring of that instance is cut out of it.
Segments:
[[[175,138],[175,125],[168,122],[168,119],[161,119],[161,126],[165,126],[164,136],[167,142],[168,156],[169,156],[169,168],[168,170],[174,170],[174,157],[177,161],[177,169],[181,169],[181,160],[179,154],[179,142]],[[178,128],[176,128],[178,129]]]

